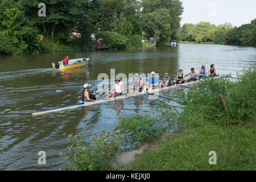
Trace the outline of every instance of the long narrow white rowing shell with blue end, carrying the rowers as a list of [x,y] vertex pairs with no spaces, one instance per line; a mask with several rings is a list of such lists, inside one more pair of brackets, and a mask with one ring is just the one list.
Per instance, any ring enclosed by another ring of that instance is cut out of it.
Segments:
[[[227,74],[227,75],[223,75],[223,76],[230,76],[231,73]],[[216,78],[220,78],[219,76],[214,77],[214,79]],[[185,82],[184,84],[179,84],[179,85],[171,85],[171,86],[167,86],[164,88],[159,88],[159,89],[154,89],[154,90],[150,90],[148,91],[149,94],[155,94],[156,96],[158,95],[159,92],[162,92],[163,90],[176,90],[179,89],[182,86],[193,86],[195,84],[198,84],[200,81],[192,81],[192,82]],[[72,104],[72,105],[68,105],[68,106],[63,106],[63,107],[56,107],[54,109],[49,109],[49,110],[45,110],[45,111],[41,111],[38,113],[32,113],[32,115],[40,115],[40,114],[47,114],[47,113],[52,113],[52,112],[57,112],[57,111],[61,111],[61,110],[67,110],[67,109],[75,109],[77,107],[80,106],[91,106],[91,105],[96,105],[96,104],[101,104],[104,102],[110,102],[110,101],[116,101],[116,100],[125,100],[126,98],[129,97],[138,97],[138,96],[144,96],[147,93],[145,92],[139,92],[139,93],[133,93],[133,94],[126,94],[123,96],[118,96],[118,97],[112,97],[112,98],[108,98],[108,99],[102,99],[102,100],[97,100],[94,102],[79,102],[76,104]]]

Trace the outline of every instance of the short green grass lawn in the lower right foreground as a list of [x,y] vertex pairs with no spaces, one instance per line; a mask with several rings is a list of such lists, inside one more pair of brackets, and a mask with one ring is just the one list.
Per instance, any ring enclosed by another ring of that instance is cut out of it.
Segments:
[[[255,170],[255,123],[245,126],[208,125],[177,131],[157,150],[148,150],[117,170]],[[217,153],[210,165],[209,151]]]

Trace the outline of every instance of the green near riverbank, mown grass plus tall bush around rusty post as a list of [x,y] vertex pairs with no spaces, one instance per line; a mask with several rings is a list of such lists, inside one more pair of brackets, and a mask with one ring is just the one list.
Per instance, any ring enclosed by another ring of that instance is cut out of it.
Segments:
[[[204,92],[202,87],[188,92],[189,102],[177,119],[185,129],[115,170],[255,170],[255,71],[244,73],[239,82],[210,81],[203,87]],[[226,111],[216,94],[220,91]],[[213,165],[211,152],[216,154]]]

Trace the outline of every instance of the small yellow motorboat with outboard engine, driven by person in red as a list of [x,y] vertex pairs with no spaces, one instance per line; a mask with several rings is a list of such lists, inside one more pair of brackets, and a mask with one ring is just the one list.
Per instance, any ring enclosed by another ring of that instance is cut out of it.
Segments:
[[68,64],[63,64],[62,61],[52,63],[53,68],[59,69],[72,69],[72,68],[82,68],[85,67],[89,63],[90,58],[78,58],[78,59],[71,59],[68,61]]

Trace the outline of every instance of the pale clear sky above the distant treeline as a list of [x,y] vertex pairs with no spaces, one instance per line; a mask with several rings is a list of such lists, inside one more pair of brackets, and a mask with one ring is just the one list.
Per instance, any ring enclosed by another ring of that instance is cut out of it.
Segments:
[[256,18],[256,0],[180,0],[183,2],[181,26],[184,23],[232,23],[241,26]]

